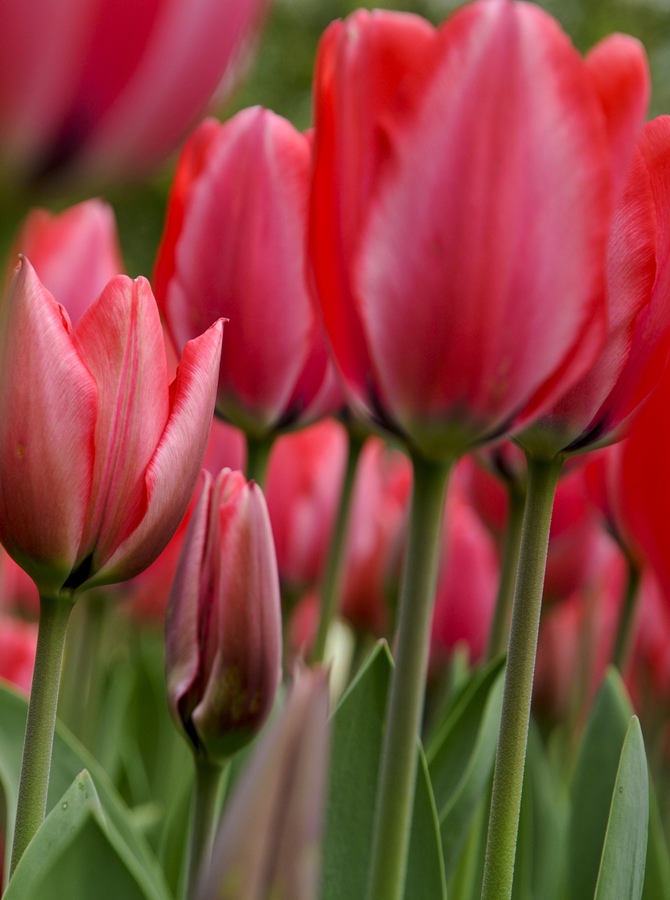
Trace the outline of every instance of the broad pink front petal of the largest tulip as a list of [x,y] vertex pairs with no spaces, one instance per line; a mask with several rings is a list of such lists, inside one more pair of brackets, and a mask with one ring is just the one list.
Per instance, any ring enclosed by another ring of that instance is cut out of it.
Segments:
[[597,343],[575,348],[603,330],[611,207],[597,98],[550,17],[473,4],[440,37],[415,115],[389,112],[356,272],[382,406],[429,456],[508,428],[592,362]]

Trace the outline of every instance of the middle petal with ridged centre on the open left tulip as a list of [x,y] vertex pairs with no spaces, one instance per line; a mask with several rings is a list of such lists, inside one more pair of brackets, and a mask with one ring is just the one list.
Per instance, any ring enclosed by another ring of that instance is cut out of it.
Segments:
[[93,492],[80,560],[109,559],[146,512],[144,475],[168,419],[167,362],[158,309],[144,279],[109,282],[74,331],[96,380]]

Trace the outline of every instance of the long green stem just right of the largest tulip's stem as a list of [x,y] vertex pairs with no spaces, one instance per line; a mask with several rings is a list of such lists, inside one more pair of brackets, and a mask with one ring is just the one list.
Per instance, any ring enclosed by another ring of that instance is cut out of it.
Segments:
[[528,496],[507,652],[482,900],[509,900],[512,896],[549,526],[562,465],[562,458],[528,459]]

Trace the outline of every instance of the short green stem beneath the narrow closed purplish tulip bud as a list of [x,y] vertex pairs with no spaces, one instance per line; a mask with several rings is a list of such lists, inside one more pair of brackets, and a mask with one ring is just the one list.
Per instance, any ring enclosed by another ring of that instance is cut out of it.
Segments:
[[225,766],[196,759],[185,900],[195,897],[201,870],[209,865],[219,813],[219,787]]

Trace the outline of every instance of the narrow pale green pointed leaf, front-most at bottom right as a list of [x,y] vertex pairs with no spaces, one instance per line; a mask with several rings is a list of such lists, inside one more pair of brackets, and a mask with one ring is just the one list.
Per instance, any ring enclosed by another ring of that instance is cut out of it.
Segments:
[[594,900],[640,900],[649,828],[649,774],[642,729],[633,716],[612,792]]

